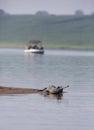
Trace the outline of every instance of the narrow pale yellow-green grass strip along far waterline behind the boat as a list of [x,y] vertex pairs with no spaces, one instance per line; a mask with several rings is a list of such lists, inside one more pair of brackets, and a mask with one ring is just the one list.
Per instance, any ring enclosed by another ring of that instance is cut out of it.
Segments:
[[[25,48],[25,42],[0,42],[0,48]],[[53,43],[44,43],[44,48],[46,49],[59,49],[59,50],[94,50],[94,45],[66,45],[66,44],[53,44]]]

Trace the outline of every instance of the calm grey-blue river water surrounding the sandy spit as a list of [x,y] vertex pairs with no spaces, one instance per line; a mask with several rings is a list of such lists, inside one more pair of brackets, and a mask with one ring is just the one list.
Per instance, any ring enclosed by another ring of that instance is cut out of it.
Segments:
[[0,49],[0,85],[70,86],[62,97],[1,95],[1,130],[94,130],[94,52]]

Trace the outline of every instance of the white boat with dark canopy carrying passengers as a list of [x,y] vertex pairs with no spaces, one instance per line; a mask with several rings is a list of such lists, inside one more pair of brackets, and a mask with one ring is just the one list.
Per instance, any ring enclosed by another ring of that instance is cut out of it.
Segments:
[[44,47],[42,46],[42,43],[40,40],[30,40],[26,46],[25,46],[25,53],[37,53],[37,54],[43,54],[44,53]]

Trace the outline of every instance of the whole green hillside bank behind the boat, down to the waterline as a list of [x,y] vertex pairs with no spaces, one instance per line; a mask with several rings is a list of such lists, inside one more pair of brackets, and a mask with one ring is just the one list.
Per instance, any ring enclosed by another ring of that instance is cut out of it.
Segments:
[[0,16],[0,46],[24,47],[30,39],[46,48],[94,50],[94,15]]

